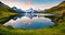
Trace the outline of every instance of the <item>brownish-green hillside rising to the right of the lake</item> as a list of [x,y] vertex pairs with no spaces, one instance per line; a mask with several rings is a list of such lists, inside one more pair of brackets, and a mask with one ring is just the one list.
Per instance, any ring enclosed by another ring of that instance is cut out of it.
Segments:
[[54,21],[65,21],[65,1],[61,2],[56,7],[41,11],[40,13],[55,13],[57,16],[53,18]]

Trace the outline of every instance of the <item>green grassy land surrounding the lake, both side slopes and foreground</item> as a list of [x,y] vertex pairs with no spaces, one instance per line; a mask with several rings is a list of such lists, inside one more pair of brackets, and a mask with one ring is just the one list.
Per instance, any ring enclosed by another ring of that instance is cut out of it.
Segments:
[[3,26],[5,22],[16,16],[16,13],[11,8],[3,4],[0,7],[0,35],[65,35],[65,1],[49,10],[39,13],[55,13],[57,15],[50,18],[55,25],[43,28],[13,28],[11,26]]

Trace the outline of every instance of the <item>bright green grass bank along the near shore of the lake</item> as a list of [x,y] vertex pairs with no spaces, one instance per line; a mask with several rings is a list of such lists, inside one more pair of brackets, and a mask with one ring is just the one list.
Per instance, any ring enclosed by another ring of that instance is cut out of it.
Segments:
[[50,26],[37,30],[18,30],[0,25],[1,35],[65,35],[65,22],[57,26]]

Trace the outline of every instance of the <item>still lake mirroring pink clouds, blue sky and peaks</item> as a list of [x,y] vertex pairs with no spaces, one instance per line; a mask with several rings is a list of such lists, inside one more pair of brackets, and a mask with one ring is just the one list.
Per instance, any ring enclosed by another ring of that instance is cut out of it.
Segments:
[[53,26],[54,23],[44,16],[34,16],[32,14],[20,14],[9,22],[4,23],[5,26],[12,26],[14,28],[40,28],[47,26]]

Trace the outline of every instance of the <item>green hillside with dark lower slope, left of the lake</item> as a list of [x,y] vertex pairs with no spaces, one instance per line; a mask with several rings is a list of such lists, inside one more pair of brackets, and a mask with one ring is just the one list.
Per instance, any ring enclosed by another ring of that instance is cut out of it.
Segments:
[[5,23],[14,15],[17,15],[17,13],[0,1],[0,24]]

